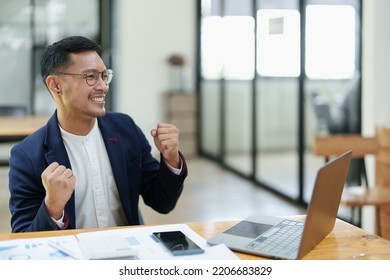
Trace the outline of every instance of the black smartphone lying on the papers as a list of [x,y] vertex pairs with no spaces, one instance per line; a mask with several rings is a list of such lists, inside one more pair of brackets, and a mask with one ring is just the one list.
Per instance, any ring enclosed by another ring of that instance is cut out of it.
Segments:
[[153,232],[153,236],[175,256],[204,253],[202,248],[181,231]]

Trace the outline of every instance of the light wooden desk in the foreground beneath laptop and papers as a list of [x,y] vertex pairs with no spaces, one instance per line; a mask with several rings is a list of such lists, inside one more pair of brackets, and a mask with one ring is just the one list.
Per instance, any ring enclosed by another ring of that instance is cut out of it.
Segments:
[[[303,219],[299,216],[297,219]],[[234,225],[237,221],[215,221],[215,222],[191,222],[188,226],[195,232],[209,239],[215,234],[224,231]],[[96,229],[45,231],[32,233],[1,233],[0,240],[16,238],[34,238],[63,236],[78,234],[80,232],[94,231]],[[107,230],[107,228],[98,229]],[[241,259],[261,260],[265,258],[237,253]],[[370,234],[363,229],[355,227],[341,220],[336,221],[334,230],[318,244],[304,259],[307,260],[390,260],[390,241]]]

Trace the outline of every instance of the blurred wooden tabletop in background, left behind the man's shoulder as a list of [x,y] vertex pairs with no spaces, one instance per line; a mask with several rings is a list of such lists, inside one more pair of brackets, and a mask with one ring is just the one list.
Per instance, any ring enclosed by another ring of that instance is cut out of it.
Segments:
[[20,141],[44,126],[48,116],[0,117],[0,143]]

